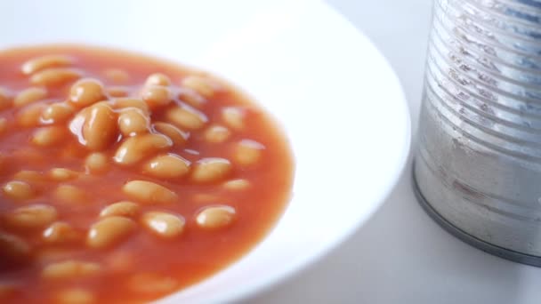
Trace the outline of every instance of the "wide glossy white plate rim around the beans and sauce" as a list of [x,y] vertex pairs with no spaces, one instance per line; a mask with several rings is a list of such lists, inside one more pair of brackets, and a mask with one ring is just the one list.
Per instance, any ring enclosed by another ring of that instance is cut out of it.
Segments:
[[[409,150],[384,57],[318,1],[0,2],[0,47],[119,46],[210,70],[284,125],[296,173],[277,227],[245,258],[162,303],[238,300],[313,263],[384,202]],[[370,244],[367,244],[369,246]]]

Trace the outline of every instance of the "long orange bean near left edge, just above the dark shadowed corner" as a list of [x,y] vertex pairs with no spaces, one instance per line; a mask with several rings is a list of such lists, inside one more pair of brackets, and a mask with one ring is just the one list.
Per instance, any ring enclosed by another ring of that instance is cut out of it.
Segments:
[[42,228],[56,220],[54,207],[46,204],[30,204],[5,214],[4,224],[13,228]]

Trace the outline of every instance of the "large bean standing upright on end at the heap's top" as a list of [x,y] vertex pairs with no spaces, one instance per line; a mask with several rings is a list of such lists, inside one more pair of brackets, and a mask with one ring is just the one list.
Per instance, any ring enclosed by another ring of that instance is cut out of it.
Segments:
[[107,103],[97,103],[89,109],[83,125],[85,146],[102,150],[117,140],[117,115]]

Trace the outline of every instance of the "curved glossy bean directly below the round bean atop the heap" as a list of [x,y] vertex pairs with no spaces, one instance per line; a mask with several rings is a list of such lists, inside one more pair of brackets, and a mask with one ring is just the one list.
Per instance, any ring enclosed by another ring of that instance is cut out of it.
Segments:
[[136,135],[122,142],[113,159],[117,164],[136,164],[143,158],[171,146],[173,146],[173,142],[162,134]]

